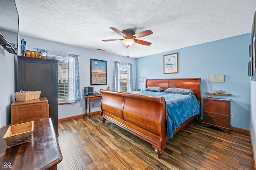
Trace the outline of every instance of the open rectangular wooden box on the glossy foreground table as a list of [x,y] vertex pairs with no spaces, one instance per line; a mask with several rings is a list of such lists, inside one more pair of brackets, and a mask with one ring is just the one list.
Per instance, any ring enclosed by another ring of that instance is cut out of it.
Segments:
[[8,127],[4,134],[3,140],[6,148],[16,146],[18,144],[31,142],[34,131],[34,121],[20,123]]

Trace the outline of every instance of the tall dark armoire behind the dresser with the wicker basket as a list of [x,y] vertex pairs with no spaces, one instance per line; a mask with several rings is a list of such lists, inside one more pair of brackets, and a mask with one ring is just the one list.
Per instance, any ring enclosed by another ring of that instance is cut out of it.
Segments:
[[18,56],[16,91],[41,91],[58,135],[58,60]]

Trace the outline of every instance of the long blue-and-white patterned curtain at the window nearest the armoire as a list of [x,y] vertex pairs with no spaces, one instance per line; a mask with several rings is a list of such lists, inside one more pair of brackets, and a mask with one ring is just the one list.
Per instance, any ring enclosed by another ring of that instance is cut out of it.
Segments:
[[68,103],[81,101],[78,55],[68,54]]

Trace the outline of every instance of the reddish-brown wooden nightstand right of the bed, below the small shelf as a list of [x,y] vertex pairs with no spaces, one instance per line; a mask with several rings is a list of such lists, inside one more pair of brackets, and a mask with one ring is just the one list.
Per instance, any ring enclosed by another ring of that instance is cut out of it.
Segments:
[[225,132],[231,131],[230,99],[203,98],[203,126],[217,127]]

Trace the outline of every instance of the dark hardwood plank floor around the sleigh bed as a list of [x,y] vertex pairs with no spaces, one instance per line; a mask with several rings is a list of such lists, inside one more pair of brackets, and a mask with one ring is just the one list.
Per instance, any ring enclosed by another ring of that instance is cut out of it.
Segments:
[[144,140],[99,114],[59,122],[58,170],[253,170],[250,135],[191,122],[169,139],[162,158]]

